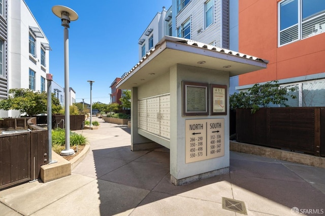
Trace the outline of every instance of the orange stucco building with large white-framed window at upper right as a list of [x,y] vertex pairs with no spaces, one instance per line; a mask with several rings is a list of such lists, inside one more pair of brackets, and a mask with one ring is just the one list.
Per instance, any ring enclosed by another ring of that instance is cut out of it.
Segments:
[[[239,1],[238,20],[239,52],[270,62],[267,69],[240,75],[237,89],[278,80],[284,86],[297,86],[300,100],[304,90],[311,90],[310,82],[316,82],[313,86],[324,93],[325,1]],[[310,104],[325,105],[325,96],[318,100]],[[304,102],[296,105],[304,106]]]

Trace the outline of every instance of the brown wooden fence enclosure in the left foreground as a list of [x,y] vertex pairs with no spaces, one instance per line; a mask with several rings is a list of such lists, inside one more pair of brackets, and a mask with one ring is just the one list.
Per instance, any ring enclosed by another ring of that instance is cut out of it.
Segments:
[[[16,123],[15,119],[1,121],[2,128],[31,131],[0,134],[0,189],[39,178],[41,165],[48,163],[47,130],[37,127],[33,118],[17,120]],[[20,124],[27,127],[21,128]]]

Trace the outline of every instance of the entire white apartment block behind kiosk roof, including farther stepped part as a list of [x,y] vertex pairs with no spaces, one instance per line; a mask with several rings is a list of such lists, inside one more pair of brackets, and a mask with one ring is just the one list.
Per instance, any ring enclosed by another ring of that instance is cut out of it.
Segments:
[[[230,31],[236,33],[238,18],[236,12],[232,13],[235,15],[232,18],[235,25],[230,25],[230,4],[229,0],[173,0],[172,6],[168,10],[163,7],[163,11],[156,14],[141,35],[138,42],[139,59],[165,35],[229,49]],[[236,9],[237,5],[238,2],[233,8]],[[235,38],[234,42],[237,41]],[[234,47],[235,50],[237,47]]]

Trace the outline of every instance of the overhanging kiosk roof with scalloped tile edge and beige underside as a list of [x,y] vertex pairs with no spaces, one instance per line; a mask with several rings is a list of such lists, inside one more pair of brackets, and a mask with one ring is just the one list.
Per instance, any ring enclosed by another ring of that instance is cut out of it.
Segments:
[[[204,43],[165,36],[117,83],[131,89],[169,72],[175,64],[228,71],[230,77],[267,67],[267,60]],[[152,76],[154,74],[154,76]]]

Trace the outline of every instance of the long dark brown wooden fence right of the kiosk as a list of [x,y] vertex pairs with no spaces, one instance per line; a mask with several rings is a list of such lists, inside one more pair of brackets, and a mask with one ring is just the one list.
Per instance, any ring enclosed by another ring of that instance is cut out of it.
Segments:
[[238,142],[325,156],[325,107],[236,110]]

